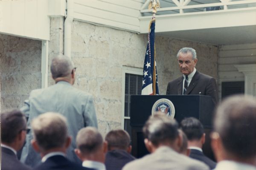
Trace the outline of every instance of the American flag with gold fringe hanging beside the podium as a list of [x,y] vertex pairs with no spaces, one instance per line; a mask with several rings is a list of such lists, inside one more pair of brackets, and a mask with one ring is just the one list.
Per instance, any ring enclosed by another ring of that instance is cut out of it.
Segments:
[[[155,95],[159,94],[158,82],[157,82],[157,66],[155,63],[155,51],[154,51],[154,30],[155,22],[151,22],[150,31],[148,33],[148,44],[145,54],[144,67],[143,67],[143,82],[142,91],[143,95]],[[155,65],[155,69],[154,69]],[[155,86],[154,86],[155,83]]]

